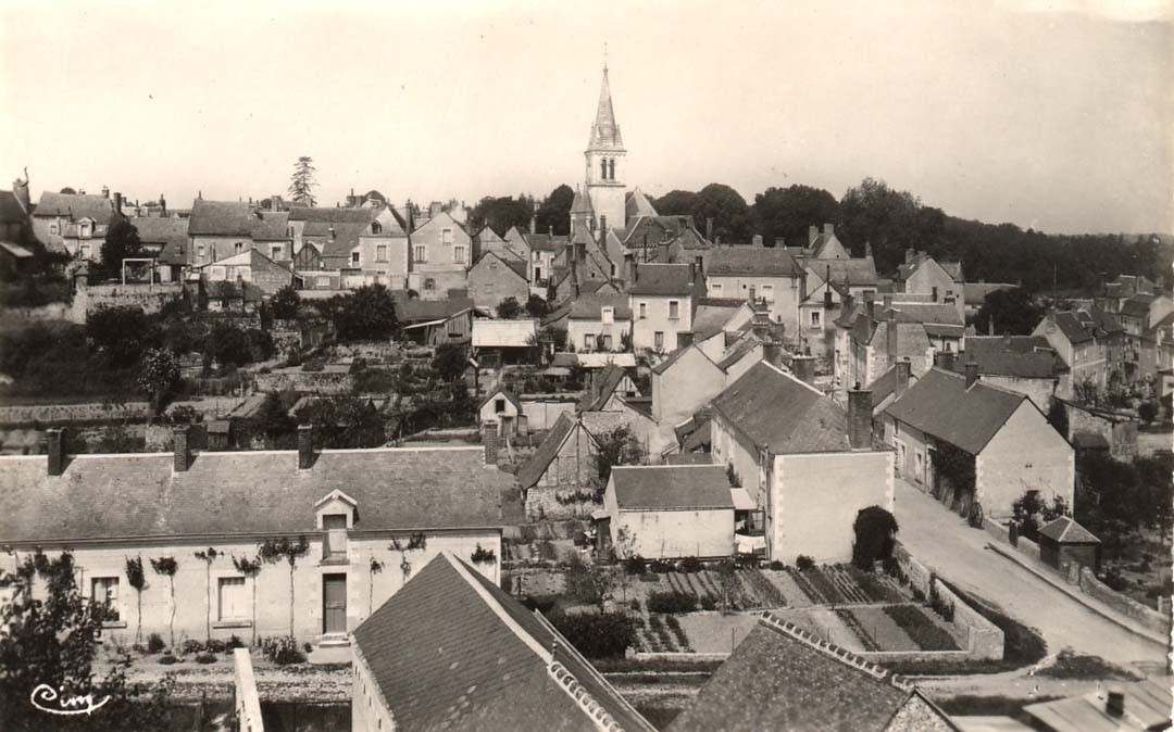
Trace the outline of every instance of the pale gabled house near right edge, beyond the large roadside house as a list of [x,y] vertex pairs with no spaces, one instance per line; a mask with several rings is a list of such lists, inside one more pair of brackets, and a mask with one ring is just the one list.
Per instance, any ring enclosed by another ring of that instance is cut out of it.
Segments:
[[1072,373],[1073,389],[1102,391],[1112,375],[1124,375],[1125,331],[1099,307],[1053,311],[1032,336],[1043,336]]

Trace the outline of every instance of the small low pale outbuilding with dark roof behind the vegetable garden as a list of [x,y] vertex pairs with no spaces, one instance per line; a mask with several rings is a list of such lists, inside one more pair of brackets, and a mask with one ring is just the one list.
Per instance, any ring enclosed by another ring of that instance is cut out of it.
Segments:
[[600,533],[610,536],[621,557],[724,558],[734,553],[734,500],[721,466],[616,466],[603,510],[607,527]]

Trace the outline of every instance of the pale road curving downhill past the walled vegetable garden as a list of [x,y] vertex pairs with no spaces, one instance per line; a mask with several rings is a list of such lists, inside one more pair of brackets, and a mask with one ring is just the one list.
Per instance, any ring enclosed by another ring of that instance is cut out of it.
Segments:
[[1062,648],[1100,656],[1131,667],[1161,664],[1166,648],[1129,633],[1060,590],[985,547],[994,538],[947,510],[931,496],[897,479],[897,538],[923,564],[963,590],[999,605],[1038,629],[1048,653]]

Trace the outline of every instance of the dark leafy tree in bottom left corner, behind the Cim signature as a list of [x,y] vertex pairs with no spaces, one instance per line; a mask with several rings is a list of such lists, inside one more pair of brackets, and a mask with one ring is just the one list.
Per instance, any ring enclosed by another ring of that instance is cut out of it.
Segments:
[[[101,645],[104,604],[82,597],[81,572],[68,551],[50,558],[36,551],[16,556],[15,570],[0,570],[8,595],[0,604],[0,719],[5,730],[55,732],[171,728],[168,676],[147,697],[127,683],[129,656],[116,659],[102,679],[94,663]],[[43,590],[41,589],[43,588]],[[47,690],[46,690],[47,687]],[[49,714],[82,697],[93,713]],[[41,709],[38,709],[41,706]],[[96,707],[96,709],[95,709]]]

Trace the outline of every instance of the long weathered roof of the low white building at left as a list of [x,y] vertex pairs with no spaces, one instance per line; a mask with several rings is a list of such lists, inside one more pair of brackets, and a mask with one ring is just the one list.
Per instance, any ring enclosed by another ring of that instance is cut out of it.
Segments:
[[0,458],[0,541],[312,534],[313,504],[355,497],[363,531],[506,526],[519,518],[513,477],[481,448],[204,452],[174,473],[163,454],[76,455],[61,476],[46,458]]

